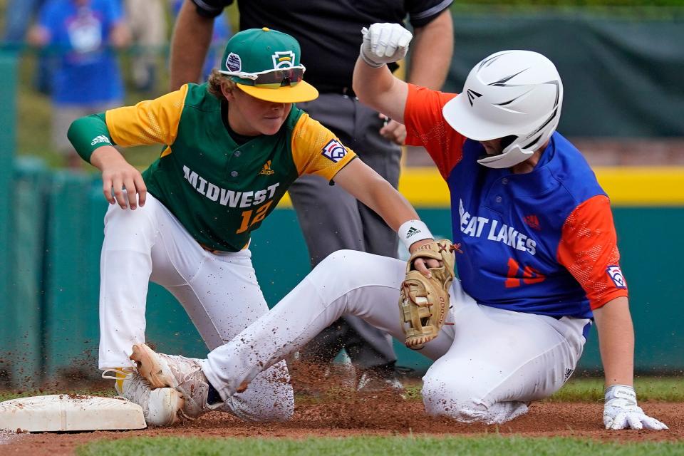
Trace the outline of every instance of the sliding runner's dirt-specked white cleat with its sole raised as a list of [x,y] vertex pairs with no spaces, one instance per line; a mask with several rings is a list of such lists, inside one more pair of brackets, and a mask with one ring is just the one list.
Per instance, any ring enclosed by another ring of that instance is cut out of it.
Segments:
[[182,415],[197,418],[222,404],[207,404],[209,380],[202,372],[198,359],[156,353],[144,343],[133,346],[130,359],[152,389],[173,388],[183,396]]

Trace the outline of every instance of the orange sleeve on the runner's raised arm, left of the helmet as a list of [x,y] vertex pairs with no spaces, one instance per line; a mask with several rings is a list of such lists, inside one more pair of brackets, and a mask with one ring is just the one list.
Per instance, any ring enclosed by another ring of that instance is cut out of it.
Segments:
[[456,96],[408,84],[404,108],[406,144],[422,145],[446,180],[461,161],[465,137],[450,127],[442,115],[442,107]]

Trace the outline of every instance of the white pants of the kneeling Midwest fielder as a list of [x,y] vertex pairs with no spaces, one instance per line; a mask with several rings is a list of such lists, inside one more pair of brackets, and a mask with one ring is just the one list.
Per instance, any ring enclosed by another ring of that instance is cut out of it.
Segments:
[[[150,280],[180,301],[209,350],[269,311],[248,249],[207,252],[149,193],[145,206],[134,211],[113,204],[100,257],[100,369],[130,366],[133,344],[145,342]],[[247,420],[286,420],[294,413],[284,361],[252,385],[231,395],[225,410]]]

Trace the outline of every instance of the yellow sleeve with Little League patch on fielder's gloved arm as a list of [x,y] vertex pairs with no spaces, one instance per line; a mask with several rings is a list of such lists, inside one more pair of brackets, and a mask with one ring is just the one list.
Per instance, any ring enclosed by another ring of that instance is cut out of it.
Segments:
[[292,132],[292,159],[299,175],[315,174],[332,180],[356,157],[321,123],[302,113]]

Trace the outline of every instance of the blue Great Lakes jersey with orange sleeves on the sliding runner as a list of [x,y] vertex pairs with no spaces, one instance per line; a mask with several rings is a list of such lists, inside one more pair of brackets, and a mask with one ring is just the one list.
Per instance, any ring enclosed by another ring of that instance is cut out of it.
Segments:
[[560,318],[626,296],[606,193],[589,164],[554,133],[534,170],[484,167],[480,142],[442,118],[454,95],[410,86],[408,143],[424,145],[451,195],[457,274],[479,304]]

